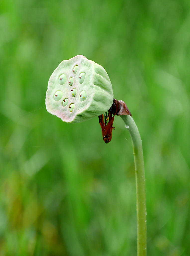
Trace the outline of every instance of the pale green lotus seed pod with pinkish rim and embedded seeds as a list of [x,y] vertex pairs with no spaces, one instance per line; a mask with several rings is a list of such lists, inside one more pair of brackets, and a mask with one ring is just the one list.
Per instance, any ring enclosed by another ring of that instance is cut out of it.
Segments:
[[46,109],[64,122],[80,123],[102,115],[112,103],[105,69],[82,55],[62,61],[49,79]]

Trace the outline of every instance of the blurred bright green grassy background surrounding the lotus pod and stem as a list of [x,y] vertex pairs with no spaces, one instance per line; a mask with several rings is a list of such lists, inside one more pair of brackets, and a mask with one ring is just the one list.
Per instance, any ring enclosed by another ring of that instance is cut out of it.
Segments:
[[103,66],[140,131],[148,255],[190,255],[190,2],[0,2],[0,255],[136,255],[128,130],[45,108],[58,64]]

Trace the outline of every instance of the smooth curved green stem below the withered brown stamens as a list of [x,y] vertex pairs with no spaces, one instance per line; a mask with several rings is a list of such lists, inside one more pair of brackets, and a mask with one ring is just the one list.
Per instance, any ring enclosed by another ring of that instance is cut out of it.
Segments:
[[121,115],[124,123],[129,126],[133,142],[137,197],[137,256],[146,256],[147,226],[146,226],[146,191],[143,146],[138,128],[130,115]]

